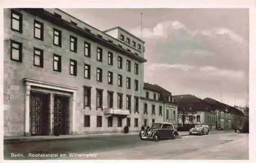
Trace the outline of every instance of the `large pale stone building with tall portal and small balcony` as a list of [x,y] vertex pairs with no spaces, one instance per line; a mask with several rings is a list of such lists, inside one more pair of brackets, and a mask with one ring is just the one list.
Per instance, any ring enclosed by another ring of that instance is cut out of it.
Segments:
[[140,130],[144,41],[59,9],[4,9],[4,135]]

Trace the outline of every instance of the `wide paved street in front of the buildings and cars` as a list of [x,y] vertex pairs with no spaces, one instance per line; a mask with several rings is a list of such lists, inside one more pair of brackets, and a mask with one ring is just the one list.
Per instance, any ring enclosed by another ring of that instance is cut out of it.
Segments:
[[[40,153],[41,155],[38,155]],[[248,134],[216,131],[175,140],[141,141],[138,135],[4,142],[5,159],[249,159]]]

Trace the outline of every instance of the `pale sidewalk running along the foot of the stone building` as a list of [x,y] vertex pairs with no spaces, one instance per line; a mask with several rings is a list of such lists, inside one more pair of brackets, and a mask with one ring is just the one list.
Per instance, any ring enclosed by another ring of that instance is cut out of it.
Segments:
[[[187,131],[179,132],[180,136],[188,135]],[[54,135],[32,136],[32,137],[4,137],[4,142],[27,142],[27,141],[46,141],[46,140],[63,140],[63,139],[83,139],[83,138],[97,138],[97,137],[120,137],[129,135],[139,135],[139,132],[124,133],[95,133],[95,134],[75,134],[75,135]]]

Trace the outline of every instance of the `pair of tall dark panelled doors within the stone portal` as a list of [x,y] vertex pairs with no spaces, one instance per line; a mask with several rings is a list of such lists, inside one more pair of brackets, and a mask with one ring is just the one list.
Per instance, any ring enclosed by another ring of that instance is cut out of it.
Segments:
[[[50,107],[51,94],[30,93],[30,130],[32,135],[49,135],[58,126],[59,134],[70,133],[69,96],[53,95],[53,109]],[[51,117],[53,118],[50,121]],[[50,123],[52,122],[52,130]]]

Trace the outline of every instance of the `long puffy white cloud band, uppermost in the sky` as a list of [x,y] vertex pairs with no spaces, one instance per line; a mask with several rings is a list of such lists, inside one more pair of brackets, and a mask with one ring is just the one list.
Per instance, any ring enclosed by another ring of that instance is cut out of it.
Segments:
[[[212,28],[212,29],[204,29],[204,30],[189,30],[187,26],[178,20],[175,21],[163,21],[158,23],[154,28],[144,28],[142,29],[142,36],[144,39],[148,38],[158,38],[158,39],[166,39],[168,38],[168,35],[171,35],[175,31],[182,30],[187,34],[188,37],[194,37],[196,35],[206,36],[206,37],[229,37],[229,39],[233,40],[234,42],[246,45],[247,43],[245,40],[234,33],[232,30],[227,29],[225,27],[219,27],[219,28]],[[132,34],[135,36],[140,36],[140,26],[137,28],[134,28],[130,30]]]

